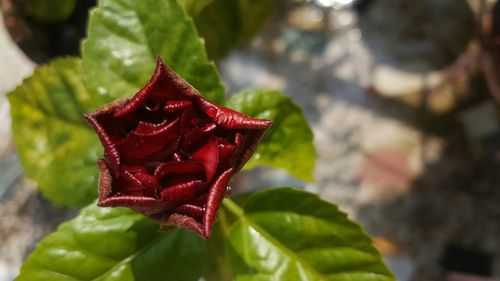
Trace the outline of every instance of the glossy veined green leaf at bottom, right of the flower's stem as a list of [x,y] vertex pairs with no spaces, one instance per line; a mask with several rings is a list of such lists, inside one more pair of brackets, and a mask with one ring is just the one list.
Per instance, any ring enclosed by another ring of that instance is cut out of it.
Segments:
[[359,225],[291,188],[254,194],[226,248],[234,280],[395,280]]

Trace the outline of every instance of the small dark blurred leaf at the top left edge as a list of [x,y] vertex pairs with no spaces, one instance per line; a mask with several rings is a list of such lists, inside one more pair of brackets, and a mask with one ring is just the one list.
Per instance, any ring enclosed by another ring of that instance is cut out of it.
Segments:
[[28,15],[43,23],[60,23],[75,10],[76,0],[24,0]]

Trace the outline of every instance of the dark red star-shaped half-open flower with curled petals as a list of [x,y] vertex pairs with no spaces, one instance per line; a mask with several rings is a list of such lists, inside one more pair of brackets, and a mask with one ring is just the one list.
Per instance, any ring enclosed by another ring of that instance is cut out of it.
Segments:
[[132,99],[86,115],[104,146],[101,207],[129,207],[208,238],[228,182],[272,122],[204,99],[160,58]]

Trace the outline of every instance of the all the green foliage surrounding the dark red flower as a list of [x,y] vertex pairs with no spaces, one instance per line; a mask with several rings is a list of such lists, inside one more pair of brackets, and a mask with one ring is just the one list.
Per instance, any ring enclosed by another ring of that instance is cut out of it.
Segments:
[[[229,42],[207,35],[209,49],[247,40],[272,2],[232,1],[181,0],[199,16],[202,33]],[[66,58],[39,67],[9,94],[25,173],[47,198],[74,207],[94,200],[102,148],[82,115],[131,97],[151,76],[157,55],[208,99],[224,104],[217,71],[176,0],[100,0],[83,63]],[[313,135],[289,97],[247,90],[229,106],[274,122],[247,168],[268,165],[312,180]],[[93,203],[47,236],[16,280],[394,280],[362,229],[318,196],[278,188],[246,202],[241,209],[225,199],[209,241]]]

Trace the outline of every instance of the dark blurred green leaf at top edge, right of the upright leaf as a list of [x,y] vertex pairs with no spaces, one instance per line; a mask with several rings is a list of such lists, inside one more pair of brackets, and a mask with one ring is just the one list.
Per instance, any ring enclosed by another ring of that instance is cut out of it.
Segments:
[[195,17],[209,57],[226,55],[239,43],[248,43],[271,14],[274,0],[215,0]]

